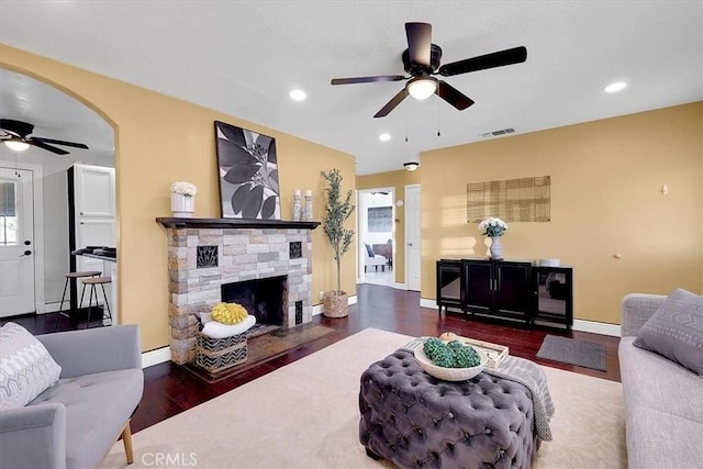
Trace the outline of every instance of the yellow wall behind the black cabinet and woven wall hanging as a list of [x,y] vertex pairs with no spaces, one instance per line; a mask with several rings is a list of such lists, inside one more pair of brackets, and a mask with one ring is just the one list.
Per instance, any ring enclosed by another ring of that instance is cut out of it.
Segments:
[[503,256],[573,266],[576,317],[618,324],[634,291],[701,293],[702,134],[696,102],[423,153],[422,297],[436,259],[487,256],[466,185],[533,176],[551,177],[551,221],[511,223]]

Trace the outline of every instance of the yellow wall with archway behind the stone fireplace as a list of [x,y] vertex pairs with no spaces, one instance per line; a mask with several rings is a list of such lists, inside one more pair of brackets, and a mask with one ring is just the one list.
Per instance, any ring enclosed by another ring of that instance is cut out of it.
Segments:
[[[322,170],[339,168],[343,189],[355,189],[355,163],[348,154],[3,44],[0,67],[74,96],[115,129],[120,319],[140,324],[145,350],[168,345],[166,231],[155,219],[170,215],[170,185],[187,180],[198,187],[196,216],[221,213],[213,121],[276,137],[283,220],[290,220],[297,188],[312,189],[313,216],[322,219]],[[355,268],[355,256],[345,256],[342,287],[349,294],[356,294]],[[314,303],[320,303],[319,291],[336,289],[335,275],[332,248],[320,226],[313,231]]]

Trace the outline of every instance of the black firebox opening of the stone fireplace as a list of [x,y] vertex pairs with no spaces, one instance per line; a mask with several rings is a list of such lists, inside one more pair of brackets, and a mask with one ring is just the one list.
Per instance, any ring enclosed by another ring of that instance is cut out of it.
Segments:
[[283,325],[288,276],[223,283],[221,290],[223,302],[239,303],[256,317],[256,328]]

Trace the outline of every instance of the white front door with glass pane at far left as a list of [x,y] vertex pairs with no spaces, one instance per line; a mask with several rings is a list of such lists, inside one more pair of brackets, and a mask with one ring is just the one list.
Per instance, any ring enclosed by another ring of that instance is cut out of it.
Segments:
[[33,172],[0,168],[0,317],[33,313]]

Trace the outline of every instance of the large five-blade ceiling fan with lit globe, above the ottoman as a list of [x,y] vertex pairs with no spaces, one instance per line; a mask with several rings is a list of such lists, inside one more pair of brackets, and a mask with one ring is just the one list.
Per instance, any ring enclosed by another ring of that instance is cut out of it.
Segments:
[[408,48],[403,52],[402,58],[403,67],[410,74],[410,77],[381,75],[375,77],[335,78],[332,80],[332,85],[409,80],[405,87],[373,115],[375,118],[388,115],[408,94],[420,100],[437,94],[459,111],[462,111],[473,104],[473,100],[446,81],[434,78],[433,75],[451,77],[454,75],[468,74],[469,71],[520,64],[527,59],[527,49],[525,46],[520,46],[454,62],[440,67],[442,47],[432,44],[432,24],[405,23],[405,34],[408,36]]

